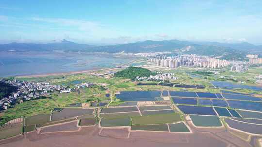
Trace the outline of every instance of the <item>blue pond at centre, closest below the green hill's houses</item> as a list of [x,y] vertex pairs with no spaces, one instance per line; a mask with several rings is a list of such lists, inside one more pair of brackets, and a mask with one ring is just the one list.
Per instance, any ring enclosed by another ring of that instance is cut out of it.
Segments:
[[122,91],[116,97],[122,101],[155,101],[161,91]]

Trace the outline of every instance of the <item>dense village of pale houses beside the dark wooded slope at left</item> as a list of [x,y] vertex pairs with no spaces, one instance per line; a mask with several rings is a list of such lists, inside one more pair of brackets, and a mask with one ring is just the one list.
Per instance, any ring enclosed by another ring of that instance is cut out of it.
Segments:
[[2,98],[0,100],[0,110],[5,110],[19,100],[20,103],[26,100],[38,99],[43,96],[49,96],[51,92],[57,91],[60,93],[70,92],[71,89],[66,86],[51,85],[49,82],[27,82],[8,80],[5,81],[18,88],[17,92],[12,93],[11,96]]

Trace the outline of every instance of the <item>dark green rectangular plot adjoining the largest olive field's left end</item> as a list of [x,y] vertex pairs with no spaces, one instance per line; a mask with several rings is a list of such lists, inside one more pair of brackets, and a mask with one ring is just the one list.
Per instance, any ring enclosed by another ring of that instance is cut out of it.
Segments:
[[130,126],[130,118],[101,119],[102,127]]

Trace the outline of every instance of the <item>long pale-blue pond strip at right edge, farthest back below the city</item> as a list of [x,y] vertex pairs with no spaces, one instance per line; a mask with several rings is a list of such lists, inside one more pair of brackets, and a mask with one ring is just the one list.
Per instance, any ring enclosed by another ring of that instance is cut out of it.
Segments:
[[262,87],[259,86],[249,86],[249,85],[242,85],[242,84],[235,84],[226,81],[212,81],[211,82],[214,86],[219,88],[238,88],[238,89],[250,89],[255,91],[262,91]]

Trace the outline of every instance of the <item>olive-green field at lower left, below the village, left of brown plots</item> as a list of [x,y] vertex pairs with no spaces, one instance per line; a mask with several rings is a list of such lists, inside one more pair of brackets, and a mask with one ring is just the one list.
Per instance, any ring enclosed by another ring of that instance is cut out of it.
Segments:
[[38,114],[25,118],[25,125],[43,124],[50,121],[50,114]]

